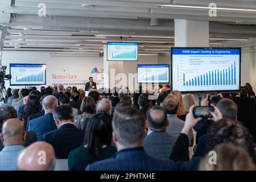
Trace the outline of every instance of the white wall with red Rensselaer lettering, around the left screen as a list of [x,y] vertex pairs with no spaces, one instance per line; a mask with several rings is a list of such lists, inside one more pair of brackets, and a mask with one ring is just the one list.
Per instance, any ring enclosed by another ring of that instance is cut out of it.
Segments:
[[[102,57],[51,56],[49,52],[3,51],[3,65],[7,66],[7,73],[9,73],[10,63],[46,64],[46,85],[61,83],[65,87],[77,86],[77,88],[84,88],[89,76],[93,76],[96,82],[100,82],[97,80],[100,74],[92,74],[91,72],[93,68],[97,68],[99,71],[103,69],[102,60]],[[53,78],[53,74],[74,75],[76,79],[56,79]],[[40,86],[38,86],[38,89]],[[9,81],[6,81],[6,88],[8,87]],[[11,88],[22,87],[24,86],[11,86]]]

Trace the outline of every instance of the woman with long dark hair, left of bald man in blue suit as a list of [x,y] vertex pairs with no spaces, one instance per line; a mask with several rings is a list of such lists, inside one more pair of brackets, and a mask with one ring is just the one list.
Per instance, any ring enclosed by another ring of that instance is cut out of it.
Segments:
[[30,115],[39,113],[40,103],[37,96],[28,96],[24,110],[20,115],[20,120],[24,122],[24,127],[27,129],[27,119]]

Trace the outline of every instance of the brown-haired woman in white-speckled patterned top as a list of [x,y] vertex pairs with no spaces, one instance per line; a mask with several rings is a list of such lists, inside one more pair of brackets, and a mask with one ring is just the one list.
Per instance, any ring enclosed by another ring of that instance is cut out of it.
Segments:
[[93,115],[96,114],[96,104],[92,97],[88,96],[84,98],[79,113],[80,114],[76,115],[75,117],[74,125],[78,129],[86,131],[86,126],[90,118],[92,118]]

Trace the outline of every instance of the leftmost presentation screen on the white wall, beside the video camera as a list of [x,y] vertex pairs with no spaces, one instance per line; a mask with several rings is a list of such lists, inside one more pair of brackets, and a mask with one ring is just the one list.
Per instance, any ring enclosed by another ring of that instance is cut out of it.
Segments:
[[10,85],[46,85],[46,64],[10,64]]

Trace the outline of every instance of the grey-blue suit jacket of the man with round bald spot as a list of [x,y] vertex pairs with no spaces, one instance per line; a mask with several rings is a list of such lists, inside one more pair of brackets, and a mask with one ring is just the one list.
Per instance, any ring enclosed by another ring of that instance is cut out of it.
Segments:
[[152,131],[143,141],[144,150],[153,158],[169,160],[175,137],[166,131]]

